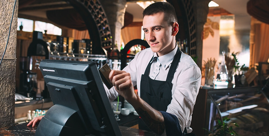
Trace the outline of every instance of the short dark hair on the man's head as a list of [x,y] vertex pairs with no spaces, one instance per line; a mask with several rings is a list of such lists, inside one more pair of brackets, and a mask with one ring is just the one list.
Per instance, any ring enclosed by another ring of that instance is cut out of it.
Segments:
[[176,15],[176,11],[173,5],[169,2],[155,2],[150,4],[144,11],[143,11],[143,18],[148,15],[153,15],[158,12],[164,13],[165,20],[170,22],[177,22],[178,18]]

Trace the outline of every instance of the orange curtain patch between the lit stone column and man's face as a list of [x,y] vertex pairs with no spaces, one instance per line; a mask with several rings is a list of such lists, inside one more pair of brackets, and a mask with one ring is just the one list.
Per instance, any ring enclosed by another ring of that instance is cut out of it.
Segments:
[[141,27],[142,26],[122,28],[121,32],[124,44],[127,44],[129,41],[133,39],[141,39]]

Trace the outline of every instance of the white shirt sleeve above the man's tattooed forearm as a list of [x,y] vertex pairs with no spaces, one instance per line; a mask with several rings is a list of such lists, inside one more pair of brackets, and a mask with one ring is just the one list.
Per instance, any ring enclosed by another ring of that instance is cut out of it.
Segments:
[[190,128],[191,115],[201,85],[202,75],[197,65],[186,66],[181,71],[176,71],[175,75],[177,73],[179,74],[174,76],[174,78],[178,78],[176,88],[166,112],[177,116],[181,130],[186,127],[189,133],[192,131]]

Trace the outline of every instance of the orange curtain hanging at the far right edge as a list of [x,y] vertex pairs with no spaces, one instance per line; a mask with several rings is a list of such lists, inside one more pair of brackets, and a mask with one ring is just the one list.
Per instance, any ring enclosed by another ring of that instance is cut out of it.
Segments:
[[259,62],[267,62],[269,58],[269,24],[251,18],[250,30],[250,66]]

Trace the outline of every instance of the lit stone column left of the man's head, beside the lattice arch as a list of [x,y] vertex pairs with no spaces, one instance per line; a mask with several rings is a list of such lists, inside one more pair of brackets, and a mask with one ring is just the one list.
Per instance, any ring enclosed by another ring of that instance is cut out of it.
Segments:
[[99,0],[102,4],[105,14],[109,21],[113,44],[121,46],[121,28],[124,25],[124,14],[126,9],[126,0]]

